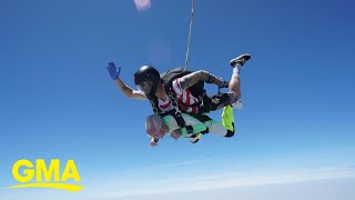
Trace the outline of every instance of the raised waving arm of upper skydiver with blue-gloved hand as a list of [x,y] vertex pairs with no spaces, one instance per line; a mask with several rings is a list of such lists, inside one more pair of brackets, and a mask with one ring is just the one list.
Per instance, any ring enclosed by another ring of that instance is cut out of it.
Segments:
[[121,79],[120,79],[120,72],[121,67],[116,68],[113,62],[108,63],[108,71],[112,78],[112,80],[115,81],[116,86],[119,87],[120,91],[128,98],[131,99],[146,99],[143,92],[139,90],[133,90],[129,86],[126,86]]

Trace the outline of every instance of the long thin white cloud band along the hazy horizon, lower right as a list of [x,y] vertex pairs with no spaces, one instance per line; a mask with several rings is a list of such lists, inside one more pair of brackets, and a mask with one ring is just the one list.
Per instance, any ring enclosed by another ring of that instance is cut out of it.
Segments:
[[[134,188],[120,189],[110,197],[130,197],[144,194],[164,194],[172,192],[211,191],[235,187],[281,184],[335,178],[355,178],[355,167],[304,169],[275,172],[227,172],[201,177],[181,177],[176,179],[153,180]],[[105,196],[104,198],[110,198]]]

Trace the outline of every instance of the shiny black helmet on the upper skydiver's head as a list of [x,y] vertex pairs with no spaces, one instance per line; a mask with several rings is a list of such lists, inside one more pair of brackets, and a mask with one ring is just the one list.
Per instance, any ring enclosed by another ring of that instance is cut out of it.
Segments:
[[158,70],[151,66],[143,66],[134,73],[135,86],[145,93],[146,97],[153,96],[160,82]]

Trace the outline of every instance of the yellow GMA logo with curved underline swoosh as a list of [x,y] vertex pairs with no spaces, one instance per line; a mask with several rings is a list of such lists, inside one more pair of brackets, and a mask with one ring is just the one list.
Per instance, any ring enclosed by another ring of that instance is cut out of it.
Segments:
[[62,174],[60,174],[59,159],[52,159],[48,168],[43,159],[37,159],[34,164],[29,160],[18,160],[12,166],[12,176],[20,183],[9,187],[9,189],[52,188],[75,192],[84,188],[67,183],[69,179],[75,182],[80,181],[80,174],[73,160],[67,161]]

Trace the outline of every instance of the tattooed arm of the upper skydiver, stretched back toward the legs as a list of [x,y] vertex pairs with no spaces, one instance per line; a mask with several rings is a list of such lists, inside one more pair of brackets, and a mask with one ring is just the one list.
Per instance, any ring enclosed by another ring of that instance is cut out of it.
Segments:
[[214,83],[219,87],[224,86],[224,81],[222,79],[216,78],[214,74],[209,73],[207,71],[195,71],[189,73],[180,79],[180,84],[183,90],[192,87],[193,84],[197,83],[199,81],[205,81],[207,83]]

